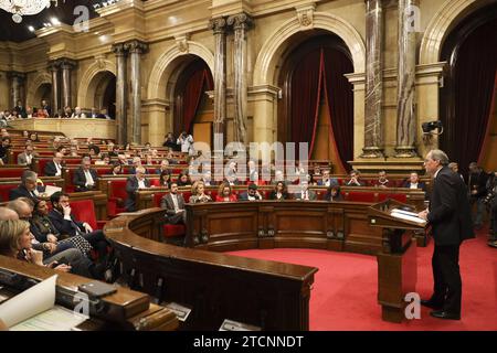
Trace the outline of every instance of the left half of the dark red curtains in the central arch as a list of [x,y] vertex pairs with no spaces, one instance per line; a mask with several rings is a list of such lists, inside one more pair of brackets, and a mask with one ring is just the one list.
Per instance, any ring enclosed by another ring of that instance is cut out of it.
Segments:
[[314,143],[322,76],[320,56],[320,49],[308,53],[292,75],[292,142]]

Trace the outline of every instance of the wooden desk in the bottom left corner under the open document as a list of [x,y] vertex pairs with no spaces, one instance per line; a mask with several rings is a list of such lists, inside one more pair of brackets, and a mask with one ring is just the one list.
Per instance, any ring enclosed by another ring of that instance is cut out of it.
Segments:
[[[77,287],[92,281],[92,279],[55,271],[53,269],[35,266],[10,257],[0,256],[0,271],[9,271],[36,281],[44,280],[54,274],[57,277],[57,303],[73,309],[74,304],[68,302],[68,293],[77,291]],[[6,279],[0,276],[0,285]],[[176,330],[178,319],[170,310],[150,303],[147,295],[139,293],[123,287],[118,287],[113,295],[102,298],[99,310],[92,312],[91,320],[82,324],[82,330]]]

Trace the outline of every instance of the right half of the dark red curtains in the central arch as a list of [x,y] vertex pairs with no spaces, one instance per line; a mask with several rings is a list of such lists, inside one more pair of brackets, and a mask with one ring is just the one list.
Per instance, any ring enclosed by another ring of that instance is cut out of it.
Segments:
[[331,118],[335,141],[343,169],[350,170],[353,160],[353,93],[343,74],[353,72],[352,62],[342,52],[325,47],[322,51],[325,94]]

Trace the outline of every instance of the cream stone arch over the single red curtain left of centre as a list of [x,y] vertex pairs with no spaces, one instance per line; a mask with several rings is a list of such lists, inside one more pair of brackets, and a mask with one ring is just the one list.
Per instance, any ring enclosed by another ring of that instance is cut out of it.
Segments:
[[180,51],[177,45],[165,52],[157,60],[150,76],[147,88],[147,99],[170,99],[169,82],[170,78],[178,74],[177,68],[184,64],[182,56],[195,55],[202,58],[209,66],[209,69],[214,74],[214,54],[204,45],[188,41],[187,50]]

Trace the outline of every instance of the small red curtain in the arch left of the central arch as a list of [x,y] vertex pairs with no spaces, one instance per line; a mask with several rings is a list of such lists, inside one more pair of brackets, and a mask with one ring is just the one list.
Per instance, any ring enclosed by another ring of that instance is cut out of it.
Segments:
[[202,96],[205,94],[205,90],[211,89],[213,89],[212,76],[207,68],[194,72],[188,79],[182,99],[184,131],[191,132],[192,122]]

